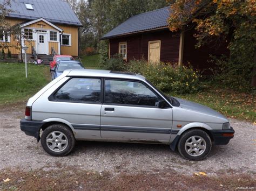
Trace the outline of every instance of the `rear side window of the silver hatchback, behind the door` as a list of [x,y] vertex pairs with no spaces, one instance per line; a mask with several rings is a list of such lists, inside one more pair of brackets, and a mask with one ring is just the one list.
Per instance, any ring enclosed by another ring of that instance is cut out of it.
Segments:
[[100,102],[100,84],[100,79],[73,78],[53,94],[53,100],[63,102]]

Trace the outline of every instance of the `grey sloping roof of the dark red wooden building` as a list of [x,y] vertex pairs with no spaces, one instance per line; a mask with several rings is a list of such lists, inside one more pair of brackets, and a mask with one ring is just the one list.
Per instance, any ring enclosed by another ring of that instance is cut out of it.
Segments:
[[124,23],[118,25],[112,31],[106,33],[102,39],[110,39],[125,34],[156,30],[167,27],[167,19],[170,16],[170,7],[157,9],[135,15],[127,19]]

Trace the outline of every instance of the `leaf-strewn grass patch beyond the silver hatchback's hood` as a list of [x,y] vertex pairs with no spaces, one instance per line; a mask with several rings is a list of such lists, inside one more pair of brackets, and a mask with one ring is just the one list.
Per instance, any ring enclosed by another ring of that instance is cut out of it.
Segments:
[[229,118],[241,119],[252,123],[256,122],[254,94],[208,87],[207,90],[197,94],[173,96],[206,105]]

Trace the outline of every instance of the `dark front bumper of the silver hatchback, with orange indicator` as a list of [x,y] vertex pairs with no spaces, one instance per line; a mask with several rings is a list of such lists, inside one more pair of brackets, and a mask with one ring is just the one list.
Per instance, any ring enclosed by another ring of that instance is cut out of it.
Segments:
[[234,130],[211,130],[214,145],[226,145],[230,142],[230,139],[234,137]]

